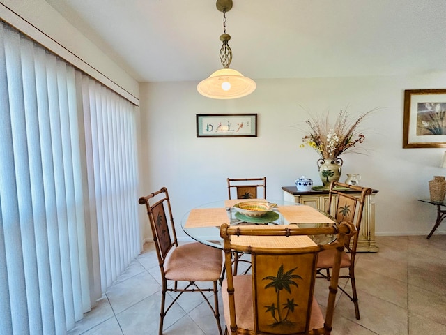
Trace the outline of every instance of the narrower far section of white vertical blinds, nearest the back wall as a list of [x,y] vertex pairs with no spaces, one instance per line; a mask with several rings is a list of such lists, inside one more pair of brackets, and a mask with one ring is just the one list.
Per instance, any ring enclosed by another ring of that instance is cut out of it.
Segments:
[[[88,75],[82,82],[89,220],[97,223],[101,288],[139,253],[137,147],[132,104]],[[93,233],[94,234],[94,233]]]

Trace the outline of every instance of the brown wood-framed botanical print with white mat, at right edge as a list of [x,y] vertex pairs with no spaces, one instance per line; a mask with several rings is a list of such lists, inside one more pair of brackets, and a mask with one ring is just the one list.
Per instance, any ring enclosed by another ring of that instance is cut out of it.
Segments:
[[403,148],[443,147],[446,147],[446,89],[406,89]]

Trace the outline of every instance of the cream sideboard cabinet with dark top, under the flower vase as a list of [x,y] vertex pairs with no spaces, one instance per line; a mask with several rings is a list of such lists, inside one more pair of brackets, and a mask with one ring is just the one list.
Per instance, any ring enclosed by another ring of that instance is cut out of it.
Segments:
[[[284,192],[284,201],[296,202],[298,204],[307,204],[321,211],[327,211],[329,190],[321,191],[298,191],[295,186],[282,186]],[[355,194],[355,191],[346,191],[346,193]],[[357,252],[376,253],[378,246],[375,241],[375,195],[377,190],[373,190],[368,195],[362,212],[362,221],[360,237],[357,241]],[[359,195],[360,193],[357,193]]]

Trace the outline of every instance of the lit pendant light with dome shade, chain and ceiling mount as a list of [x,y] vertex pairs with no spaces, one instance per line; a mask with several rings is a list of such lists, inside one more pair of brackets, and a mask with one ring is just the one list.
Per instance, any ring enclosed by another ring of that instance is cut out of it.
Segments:
[[223,68],[215,71],[197,85],[197,91],[203,96],[214,99],[235,99],[251,94],[256,89],[256,83],[245,77],[237,70],[229,68],[232,61],[232,50],[229,47],[231,36],[226,34],[226,12],[232,8],[232,0],[217,0],[217,9],[223,12],[223,31],[220,40],[223,45],[220,49],[220,61]]

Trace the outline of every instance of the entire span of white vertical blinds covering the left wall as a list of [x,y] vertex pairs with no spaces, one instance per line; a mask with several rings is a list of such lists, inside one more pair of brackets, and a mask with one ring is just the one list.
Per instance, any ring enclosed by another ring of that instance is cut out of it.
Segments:
[[0,22],[1,334],[65,334],[139,253],[134,122]]

